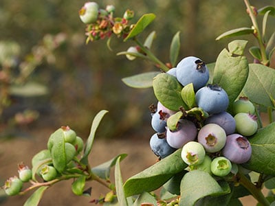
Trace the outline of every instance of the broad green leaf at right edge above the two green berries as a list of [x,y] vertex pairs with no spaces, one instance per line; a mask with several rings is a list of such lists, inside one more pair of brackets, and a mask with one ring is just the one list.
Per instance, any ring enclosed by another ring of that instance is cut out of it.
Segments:
[[256,104],[274,108],[272,99],[275,98],[275,70],[260,64],[250,64],[249,69],[243,93]]

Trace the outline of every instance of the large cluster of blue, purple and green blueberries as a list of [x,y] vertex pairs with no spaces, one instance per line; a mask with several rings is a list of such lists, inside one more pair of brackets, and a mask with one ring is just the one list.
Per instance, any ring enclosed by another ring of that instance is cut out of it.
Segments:
[[208,84],[208,67],[195,56],[183,58],[167,75],[174,76],[183,87],[193,84],[196,107],[202,108],[208,117],[201,124],[188,116],[181,117],[176,130],[170,130],[167,119],[178,111],[157,102],[151,119],[155,134],[150,139],[155,155],[163,159],[182,148],[181,158],[190,169],[217,176],[229,174],[232,163],[247,162],[252,155],[247,137],[258,129],[254,104],[241,97],[228,113],[228,94],[221,87]]

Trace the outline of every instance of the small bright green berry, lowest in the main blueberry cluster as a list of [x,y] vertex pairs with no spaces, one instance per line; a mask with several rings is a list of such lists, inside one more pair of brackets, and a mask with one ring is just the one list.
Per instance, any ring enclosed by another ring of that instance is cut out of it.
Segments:
[[226,176],[230,173],[232,164],[229,159],[226,159],[225,157],[216,157],[212,160],[210,168],[214,175]]

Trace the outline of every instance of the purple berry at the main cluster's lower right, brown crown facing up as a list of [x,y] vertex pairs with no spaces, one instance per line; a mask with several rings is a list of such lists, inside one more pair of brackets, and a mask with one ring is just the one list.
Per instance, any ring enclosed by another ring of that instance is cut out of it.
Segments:
[[243,135],[232,134],[226,137],[226,144],[222,150],[224,157],[233,163],[245,163],[252,154],[252,148],[248,139]]

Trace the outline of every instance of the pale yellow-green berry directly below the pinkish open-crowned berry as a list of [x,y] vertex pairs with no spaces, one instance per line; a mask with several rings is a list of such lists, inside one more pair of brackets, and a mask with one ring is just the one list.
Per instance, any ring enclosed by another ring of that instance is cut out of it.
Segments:
[[189,141],[181,150],[181,159],[188,165],[199,165],[203,163],[206,151],[197,141]]

